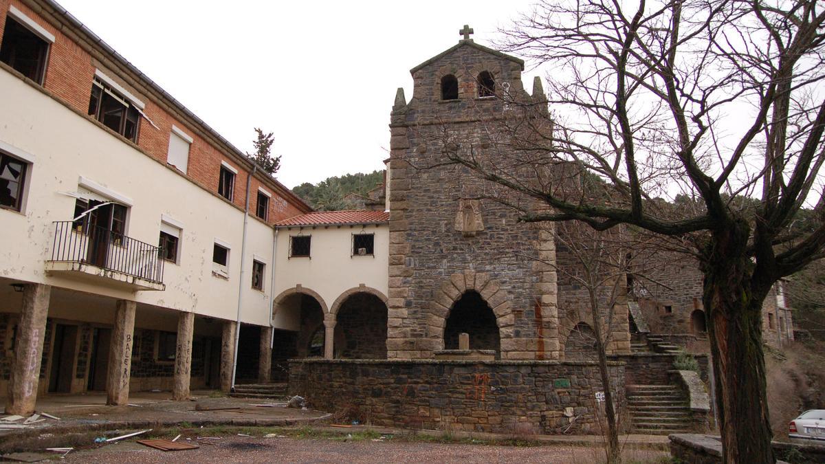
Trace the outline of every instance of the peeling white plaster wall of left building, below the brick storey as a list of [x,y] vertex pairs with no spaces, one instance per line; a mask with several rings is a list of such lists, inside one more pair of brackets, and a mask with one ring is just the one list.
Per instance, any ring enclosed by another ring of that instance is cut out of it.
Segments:
[[[0,141],[35,158],[22,214],[0,210],[0,277],[235,320],[242,211],[3,70],[0,102]],[[140,130],[156,129],[142,121]],[[76,192],[80,176],[134,201],[126,228],[126,234],[134,239],[158,244],[161,215],[183,224],[178,263],[166,263],[165,291],[135,292],[45,273],[53,221],[71,220],[74,211],[75,199],[59,192]],[[248,225],[241,320],[268,324],[270,279],[266,279],[264,292],[252,290],[251,272],[253,254],[267,257],[270,264],[272,230],[252,217]],[[216,237],[232,245],[229,280],[212,275]]]

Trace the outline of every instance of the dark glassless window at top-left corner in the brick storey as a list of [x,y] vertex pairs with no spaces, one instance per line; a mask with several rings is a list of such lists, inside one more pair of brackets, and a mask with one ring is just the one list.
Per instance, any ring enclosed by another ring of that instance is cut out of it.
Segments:
[[0,45],[0,61],[42,85],[48,54],[49,42],[11,16],[6,17],[6,28]]

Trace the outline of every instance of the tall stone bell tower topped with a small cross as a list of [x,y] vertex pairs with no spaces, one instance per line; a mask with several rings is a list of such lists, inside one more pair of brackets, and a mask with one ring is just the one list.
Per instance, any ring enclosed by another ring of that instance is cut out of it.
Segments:
[[557,359],[552,229],[518,222],[496,186],[446,163],[450,150],[494,163],[508,111],[545,101],[538,78],[524,90],[521,59],[472,33],[411,69],[413,97],[399,88],[390,116],[388,357],[430,358],[468,333],[500,359]]

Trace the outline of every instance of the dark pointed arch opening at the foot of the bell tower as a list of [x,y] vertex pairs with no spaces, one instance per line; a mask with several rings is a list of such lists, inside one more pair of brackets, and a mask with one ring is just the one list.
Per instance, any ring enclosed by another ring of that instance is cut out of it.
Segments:
[[500,357],[501,339],[493,309],[478,291],[468,291],[455,301],[444,329],[444,348],[458,349],[459,334],[469,334],[470,349],[492,349]]

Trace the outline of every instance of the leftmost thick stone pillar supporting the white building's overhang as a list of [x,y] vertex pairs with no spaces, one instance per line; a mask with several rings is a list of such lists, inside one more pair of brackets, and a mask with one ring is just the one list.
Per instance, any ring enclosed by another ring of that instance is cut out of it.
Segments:
[[50,294],[49,285],[28,284],[23,289],[23,307],[20,323],[17,324],[12,372],[8,380],[6,414],[29,415],[35,412]]

